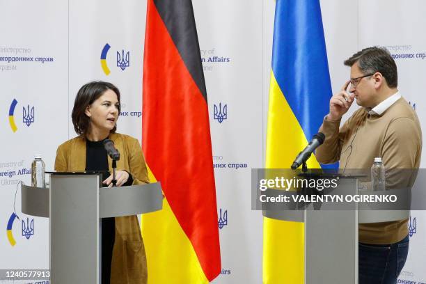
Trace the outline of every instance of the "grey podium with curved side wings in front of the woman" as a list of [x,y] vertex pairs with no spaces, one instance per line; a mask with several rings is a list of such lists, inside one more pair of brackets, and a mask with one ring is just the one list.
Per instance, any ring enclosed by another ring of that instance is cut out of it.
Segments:
[[159,182],[103,187],[99,173],[52,173],[50,189],[22,185],[22,212],[49,218],[51,283],[101,283],[100,218],[161,210]]

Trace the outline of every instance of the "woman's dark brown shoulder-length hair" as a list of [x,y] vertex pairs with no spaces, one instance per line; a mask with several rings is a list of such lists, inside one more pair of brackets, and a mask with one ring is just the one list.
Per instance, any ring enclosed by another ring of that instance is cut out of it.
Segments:
[[[113,84],[104,81],[92,81],[80,88],[74,100],[72,108],[72,125],[77,134],[86,135],[90,127],[90,118],[86,116],[86,109],[90,104],[93,104],[107,90],[113,90],[117,95],[117,100],[120,103],[120,90]],[[120,115],[120,104],[118,106],[118,115]],[[117,125],[111,130],[111,133],[116,132]]]

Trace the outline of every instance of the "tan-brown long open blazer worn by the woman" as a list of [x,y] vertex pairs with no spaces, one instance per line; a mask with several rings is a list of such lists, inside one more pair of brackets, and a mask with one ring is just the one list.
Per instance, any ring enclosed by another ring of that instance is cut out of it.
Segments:
[[[117,171],[132,174],[133,184],[149,183],[148,171],[137,139],[125,134],[110,134],[120,152]],[[112,160],[108,157],[109,171],[112,173]],[[86,168],[86,139],[78,136],[58,147],[55,171],[84,172]],[[145,247],[136,216],[116,217],[116,240],[111,263],[111,284],[148,283]]]

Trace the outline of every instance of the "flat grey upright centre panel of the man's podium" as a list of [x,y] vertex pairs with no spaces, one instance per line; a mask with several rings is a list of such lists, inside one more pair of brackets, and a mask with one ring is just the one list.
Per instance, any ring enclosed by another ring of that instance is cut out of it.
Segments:
[[[355,195],[357,189],[356,179],[339,181],[342,194]],[[305,210],[306,283],[358,284],[358,211],[321,207]]]

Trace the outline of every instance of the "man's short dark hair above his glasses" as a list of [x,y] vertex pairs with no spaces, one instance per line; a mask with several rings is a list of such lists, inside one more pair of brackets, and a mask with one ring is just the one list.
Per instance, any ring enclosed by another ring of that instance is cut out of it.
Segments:
[[384,47],[367,47],[345,60],[344,64],[352,66],[356,62],[358,62],[358,67],[363,74],[380,72],[390,88],[398,86],[397,66],[388,49]]

